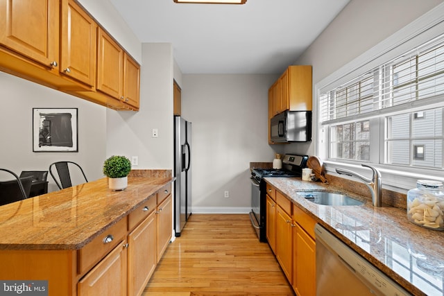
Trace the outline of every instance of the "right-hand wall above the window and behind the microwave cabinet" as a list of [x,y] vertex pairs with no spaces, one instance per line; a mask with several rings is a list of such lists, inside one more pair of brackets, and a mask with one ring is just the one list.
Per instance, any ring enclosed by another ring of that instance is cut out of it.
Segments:
[[[352,0],[294,64],[313,65],[314,86],[442,2],[442,0]],[[315,103],[313,122],[313,129],[316,129]],[[315,139],[314,137],[314,141]],[[302,152],[306,149],[306,153],[314,155],[314,143],[305,147],[298,145],[297,143],[287,145],[285,151]]]

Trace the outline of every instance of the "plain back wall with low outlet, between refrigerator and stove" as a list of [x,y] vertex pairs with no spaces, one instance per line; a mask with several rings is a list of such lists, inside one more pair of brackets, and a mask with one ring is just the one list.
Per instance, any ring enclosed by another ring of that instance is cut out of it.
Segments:
[[[250,162],[271,162],[268,87],[275,75],[183,75],[182,116],[191,121],[193,212],[250,208]],[[230,191],[230,198],[224,198]],[[215,207],[217,209],[215,209]]]

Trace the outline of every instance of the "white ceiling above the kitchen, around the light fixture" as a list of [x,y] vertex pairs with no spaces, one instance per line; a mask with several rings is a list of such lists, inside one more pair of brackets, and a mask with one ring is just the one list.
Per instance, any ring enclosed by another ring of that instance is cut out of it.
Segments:
[[140,42],[168,42],[182,73],[282,73],[350,0],[244,5],[110,0]]

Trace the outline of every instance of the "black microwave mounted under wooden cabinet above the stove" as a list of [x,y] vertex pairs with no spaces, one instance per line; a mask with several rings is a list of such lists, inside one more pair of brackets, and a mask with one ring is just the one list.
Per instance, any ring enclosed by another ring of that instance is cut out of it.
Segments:
[[311,111],[284,111],[274,116],[270,138],[276,143],[311,141]]

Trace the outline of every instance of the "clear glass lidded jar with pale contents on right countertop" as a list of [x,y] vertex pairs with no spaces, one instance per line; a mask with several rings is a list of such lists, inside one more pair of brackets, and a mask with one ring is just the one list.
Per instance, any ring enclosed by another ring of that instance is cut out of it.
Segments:
[[407,218],[425,228],[444,230],[444,187],[434,180],[418,180],[407,193]]

